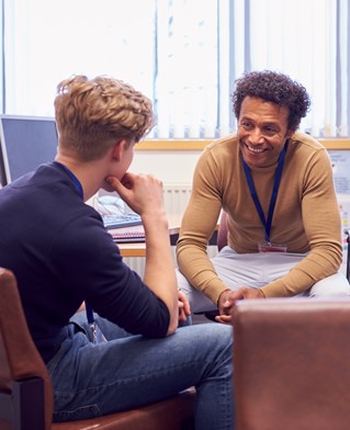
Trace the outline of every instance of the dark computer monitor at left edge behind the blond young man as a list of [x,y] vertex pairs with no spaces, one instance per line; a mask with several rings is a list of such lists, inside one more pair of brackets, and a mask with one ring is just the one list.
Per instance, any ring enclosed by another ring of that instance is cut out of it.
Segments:
[[0,182],[4,186],[57,154],[53,117],[0,115]]

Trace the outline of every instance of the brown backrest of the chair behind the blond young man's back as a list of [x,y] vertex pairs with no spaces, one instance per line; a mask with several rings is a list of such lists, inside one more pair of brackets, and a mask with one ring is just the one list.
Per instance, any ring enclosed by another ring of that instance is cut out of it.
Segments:
[[15,276],[2,268],[0,363],[0,428],[50,429],[53,391],[49,375],[29,331]]

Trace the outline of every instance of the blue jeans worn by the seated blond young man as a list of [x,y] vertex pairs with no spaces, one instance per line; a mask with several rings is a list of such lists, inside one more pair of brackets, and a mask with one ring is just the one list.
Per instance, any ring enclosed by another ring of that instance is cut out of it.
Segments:
[[200,324],[165,339],[147,339],[98,317],[108,342],[93,343],[80,314],[47,363],[54,421],[135,408],[195,386],[195,428],[234,428],[232,327]]

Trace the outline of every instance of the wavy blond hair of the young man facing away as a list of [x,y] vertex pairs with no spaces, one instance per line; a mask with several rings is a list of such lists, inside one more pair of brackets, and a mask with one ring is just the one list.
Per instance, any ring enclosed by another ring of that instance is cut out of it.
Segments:
[[59,146],[81,160],[101,158],[118,140],[140,140],[154,126],[150,100],[106,76],[75,76],[57,86]]

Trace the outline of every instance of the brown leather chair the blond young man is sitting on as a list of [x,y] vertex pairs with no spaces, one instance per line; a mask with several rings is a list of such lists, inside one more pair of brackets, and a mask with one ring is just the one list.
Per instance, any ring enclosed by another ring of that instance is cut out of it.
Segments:
[[192,429],[194,397],[189,389],[133,410],[52,423],[49,375],[31,338],[15,278],[0,268],[0,430]]

